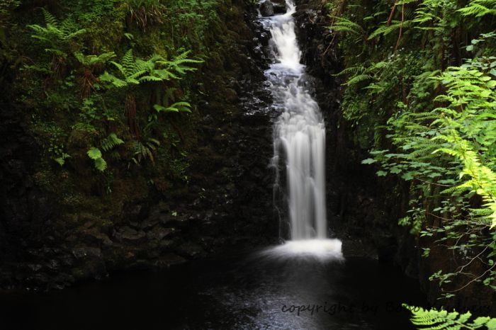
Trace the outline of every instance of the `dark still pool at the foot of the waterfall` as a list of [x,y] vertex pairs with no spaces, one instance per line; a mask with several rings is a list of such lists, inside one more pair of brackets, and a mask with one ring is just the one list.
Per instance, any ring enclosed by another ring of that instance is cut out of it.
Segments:
[[57,292],[0,293],[0,329],[414,329],[401,302],[424,298],[388,264],[244,254]]

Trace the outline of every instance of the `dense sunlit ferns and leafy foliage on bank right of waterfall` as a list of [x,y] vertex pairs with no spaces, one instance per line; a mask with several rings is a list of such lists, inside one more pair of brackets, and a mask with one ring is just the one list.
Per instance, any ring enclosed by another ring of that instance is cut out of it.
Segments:
[[363,164],[409,185],[400,225],[453,250],[459,264],[431,277],[445,297],[473,283],[496,288],[496,3],[393,2],[329,6],[343,116],[371,150]]

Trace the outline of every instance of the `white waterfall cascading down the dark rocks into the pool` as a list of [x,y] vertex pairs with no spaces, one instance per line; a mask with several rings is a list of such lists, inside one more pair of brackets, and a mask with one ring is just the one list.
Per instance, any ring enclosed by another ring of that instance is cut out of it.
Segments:
[[[326,239],[325,124],[320,108],[305,88],[305,66],[295,35],[293,0],[286,0],[283,15],[264,18],[271,31],[276,63],[266,76],[271,83],[274,108],[283,113],[274,127],[276,169],[286,166],[288,216],[291,241],[266,251],[266,255],[286,257],[317,255],[342,258],[341,241]],[[279,173],[276,175],[278,186]]]

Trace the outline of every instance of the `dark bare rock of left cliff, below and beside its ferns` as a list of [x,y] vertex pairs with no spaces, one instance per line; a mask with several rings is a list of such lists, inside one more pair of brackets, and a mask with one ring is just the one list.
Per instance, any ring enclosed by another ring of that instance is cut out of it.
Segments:
[[[186,140],[187,182],[159,174],[150,181],[119,169],[112,192],[102,194],[84,152],[66,169],[41,171],[30,109],[4,94],[0,288],[63,288],[118,269],[169,267],[276,239],[268,167],[272,118],[264,111],[271,96],[257,39],[263,31],[252,4],[227,2],[218,11],[222,30],[211,31],[215,45],[208,45],[196,73],[204,86],[197,109],[176,123],[188,122],[178,130]],[[83,140],[72,135],[69,149]]]

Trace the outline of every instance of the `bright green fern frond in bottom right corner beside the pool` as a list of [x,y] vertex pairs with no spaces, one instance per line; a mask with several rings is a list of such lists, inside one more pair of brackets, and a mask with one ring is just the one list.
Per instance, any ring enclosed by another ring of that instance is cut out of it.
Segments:
[[474,330],[487,329],[496,330],[496,319],[490,317],[472,318],[470,312],[460,314],[456,311],[423,309],[403,304],[403,307],[412,312],[412,324],[419,330]]

